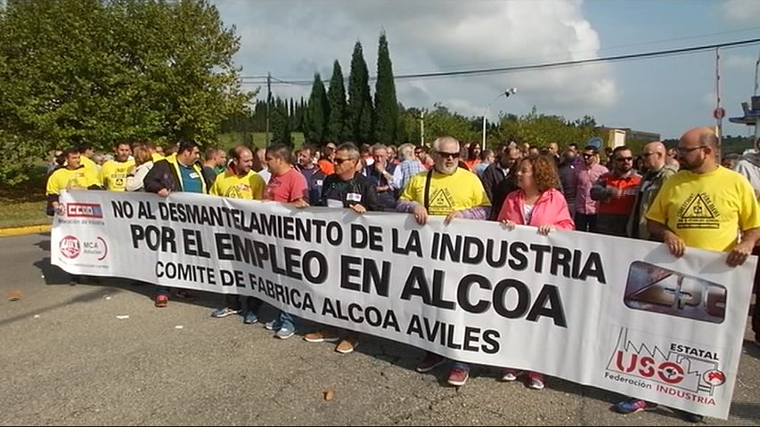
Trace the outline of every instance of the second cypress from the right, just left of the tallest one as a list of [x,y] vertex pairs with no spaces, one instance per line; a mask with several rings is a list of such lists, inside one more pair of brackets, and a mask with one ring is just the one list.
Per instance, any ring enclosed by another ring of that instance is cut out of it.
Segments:
[[348,77],[348,126],[357,143],[372,142],[372,96],[362,43],[356,42]]

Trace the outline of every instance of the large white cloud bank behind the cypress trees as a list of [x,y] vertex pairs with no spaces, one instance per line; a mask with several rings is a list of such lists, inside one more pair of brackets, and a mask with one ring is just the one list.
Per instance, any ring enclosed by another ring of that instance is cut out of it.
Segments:
[[[311,79],[331,76],[338,59],[347,75],[355,41],[361,40],[370,75],[376,72],[377,39],[385,29],[396,76],[407,73],[502,68],[597,56],[600,40],[581,3],[468,2],[438,0],[233,1],[217,0],[225,24],[241,36],[238,63],[247,76]],[[508,87],[519,101],[492,109],[535,105],[566,113],[614,105],[619,96],[611,68],[594,64],[475,77],[397,80],[405,105],[442,101],[462,114],[482,114]],[[277,85],[280,96],[307,96],[310,87]],[[495,112],[494,112],[495,117]]]

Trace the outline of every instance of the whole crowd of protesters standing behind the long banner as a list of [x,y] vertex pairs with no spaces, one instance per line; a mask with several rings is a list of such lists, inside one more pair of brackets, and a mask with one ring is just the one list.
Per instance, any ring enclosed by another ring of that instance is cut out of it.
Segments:
[[[440,137],[430,147],[357,147],[347,142],[305,145],[295,151],[285,145],[240,145],[228,152],[208,148],[201,163],[200,147],[192,141],[164,149],[118,142],[111,158],[99,165],[85,145],[65,149],[55,158],[47,182],[48,212],[60,209],[61,189],[148,191],[160,197],[184,191],[358,214],[408,213],[421,226],[430,216],[439,216],[445,223],[502,222],[505,232],[524,225],[544,235],[580,230],[655,240],[676,257],[690,247],[722,251],[726,262],[736,266],[753,254],[760,238],[760,154],[721,162],[718,149],[715,133],[707,127],[684,133],[674,148],[652,141],[641,153],[626,146],[600,153],[595,146],[570,145],[560,151],[556,143],[539,149],[516,142],[484,150],[478,143]],[[176,296],[194,297],[184,290]],[[168,300],[169,289],[158,286],[155,306],[166,307]],[[241,315],[246,324],[258,322],[261,300],[228,295],[225,302],[212,317]],[[760,343],[757,306],[753,330]],[[298,318],[281,311],[265,327],[287,339],[296,333]],[[341,353],[359,343],[356,334],[331,328],[305,334],[304,339],[337,342],[335,350]],[[417,370],[428,372],[444,364],[447,383],[467,382],[467,364],[431,352]],[[504,368],[502,379],[515,381],[521,375],[528,387],[543,389],[543,375],[537,372]],[[628,414],[655,406],[627,399],[613,408]],[[701,420],[699,415],[684,415],[692,422]]]

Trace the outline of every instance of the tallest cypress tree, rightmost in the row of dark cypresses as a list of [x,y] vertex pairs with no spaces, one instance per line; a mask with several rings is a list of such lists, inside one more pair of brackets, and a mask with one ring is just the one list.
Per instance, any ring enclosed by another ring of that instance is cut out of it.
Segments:
[[383,144],[396,144],[398,141],[398,102],[396,101],[396,84],[393,81],[393,65],[388,52],[388,38],[380,33],[378,43],[378,79],[375,84],[375,137]]

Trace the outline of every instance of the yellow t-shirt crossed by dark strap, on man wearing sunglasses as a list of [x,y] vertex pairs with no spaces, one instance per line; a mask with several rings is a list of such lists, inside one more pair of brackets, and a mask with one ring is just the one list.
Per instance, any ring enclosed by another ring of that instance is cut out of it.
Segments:
[[[427,180],[427,171],[414,175],[406,184],[399,199],[425,205],[425,181]],[[445,216],[454,211],[491,205],[478,175],[461,167],[451,175],[433,172],[428,197],[428,213],[431,215]]]

